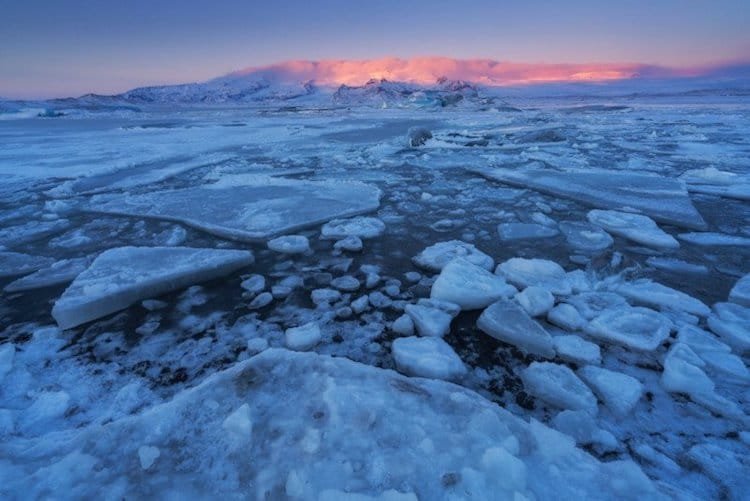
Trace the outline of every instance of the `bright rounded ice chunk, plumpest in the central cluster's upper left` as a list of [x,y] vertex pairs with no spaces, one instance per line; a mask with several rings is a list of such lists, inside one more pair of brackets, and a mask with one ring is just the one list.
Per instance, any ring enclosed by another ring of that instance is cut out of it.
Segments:
[[432,284],[430,297],[455,303],[462,310],[477,310],[515,292],[515,287],[502,277],[464,258],[456,258],[443,267]]

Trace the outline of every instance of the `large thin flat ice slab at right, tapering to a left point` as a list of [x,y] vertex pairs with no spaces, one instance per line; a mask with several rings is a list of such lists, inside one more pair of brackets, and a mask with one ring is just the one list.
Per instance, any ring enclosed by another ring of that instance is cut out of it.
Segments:
[[611,170],[471,169],[487,178],[602,209],[629,207],[659,221],[705,229],[683,181]]

